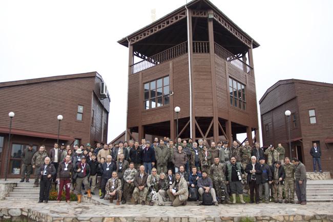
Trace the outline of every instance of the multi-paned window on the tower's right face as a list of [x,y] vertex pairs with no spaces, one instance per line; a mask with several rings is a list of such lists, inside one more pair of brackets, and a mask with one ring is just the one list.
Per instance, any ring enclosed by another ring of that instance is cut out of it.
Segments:
[[246,110],[245,85],[229,78],[230,105]]

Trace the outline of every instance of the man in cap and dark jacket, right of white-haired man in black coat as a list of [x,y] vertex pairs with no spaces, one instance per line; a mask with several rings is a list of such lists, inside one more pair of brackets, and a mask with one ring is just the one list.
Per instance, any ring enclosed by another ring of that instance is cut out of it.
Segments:
[[265,164],[265,158],[262,156],[259,159],[260,167],[261,167],[261,184],[259,184],[259,199],[263,201],[262,192],[264,191],[265,203],[269,203],[269,184],[272,183],[272,171],[270,167]]

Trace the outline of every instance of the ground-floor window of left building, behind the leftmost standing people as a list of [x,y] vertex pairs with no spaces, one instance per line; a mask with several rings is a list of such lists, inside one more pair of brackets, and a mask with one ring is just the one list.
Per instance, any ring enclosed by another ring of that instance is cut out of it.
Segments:
[[[37,150],[37,146],[32,147],[33,150]],[[28,149],[28,145],[25,144],[12,144],[12,150],[9,159],[9,173],[18,175],[21,169],[21,154]]]

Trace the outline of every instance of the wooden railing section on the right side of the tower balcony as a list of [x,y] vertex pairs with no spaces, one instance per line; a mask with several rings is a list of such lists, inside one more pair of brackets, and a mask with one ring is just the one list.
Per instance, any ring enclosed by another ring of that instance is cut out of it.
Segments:
[[214,43],[214,51],[215,54],[227,62],[231,63],[233,66],[237,67],[238,69],[246,72],[251,73],[253,68],[246,63],[244,63],[242,60],[237,58],[234,54],[229,52],[228,50],[224,49],[222,46],[220,46],[217,43]]

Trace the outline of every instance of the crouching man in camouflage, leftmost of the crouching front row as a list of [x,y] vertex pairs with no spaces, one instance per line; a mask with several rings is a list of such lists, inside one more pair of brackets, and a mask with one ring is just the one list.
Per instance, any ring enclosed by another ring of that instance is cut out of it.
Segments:
[[117,199],[117,205],[120,204],[122,192],[121,192],[121,180],[118,178],[116,171],[112,172],[112,177],[108,180],[105,186],[106,195],[104,199],[110,199],[110,203],[113,199]]

